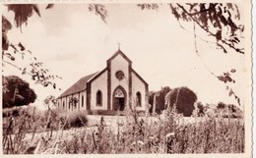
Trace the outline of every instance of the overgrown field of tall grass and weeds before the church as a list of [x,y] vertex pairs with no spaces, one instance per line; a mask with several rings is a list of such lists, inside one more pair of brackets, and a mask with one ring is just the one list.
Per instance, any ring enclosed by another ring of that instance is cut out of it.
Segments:
[[5,154],[242,153],[243,119],[24,110],[3,119]]

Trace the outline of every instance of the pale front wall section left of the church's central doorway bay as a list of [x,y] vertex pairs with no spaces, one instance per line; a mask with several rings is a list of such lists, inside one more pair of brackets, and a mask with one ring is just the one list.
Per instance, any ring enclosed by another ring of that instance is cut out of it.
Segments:
[[[107,71],[92,81],[91,84],[91,109],[107,110]],[[96,104],[96,93],[101,92],[101,105]]]

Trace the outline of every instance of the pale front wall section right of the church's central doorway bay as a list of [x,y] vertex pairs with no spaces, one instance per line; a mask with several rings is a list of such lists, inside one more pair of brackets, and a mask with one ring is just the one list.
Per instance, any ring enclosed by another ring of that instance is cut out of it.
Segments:
[[137,101],[137,93],[141,93],[141,106],[136,106],[137,110],[145,110],[146,106],[146,85],[145,83],[139,79],[133,72],[132,72],[132,107],[136,106]]

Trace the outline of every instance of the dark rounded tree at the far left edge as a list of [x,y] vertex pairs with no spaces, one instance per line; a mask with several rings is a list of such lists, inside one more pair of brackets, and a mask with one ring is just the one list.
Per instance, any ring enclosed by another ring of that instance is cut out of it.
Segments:
[[16,76],[3,77],[3,108],[29,105],[36,99],[30,84]]

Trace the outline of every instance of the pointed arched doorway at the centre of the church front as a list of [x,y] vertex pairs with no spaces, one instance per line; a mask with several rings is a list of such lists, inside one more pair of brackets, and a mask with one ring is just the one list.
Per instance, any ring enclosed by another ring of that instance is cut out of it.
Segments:
[[117,86],[113,92],[112,109],[123,111],[126,105],[126,92],[122,86]]

